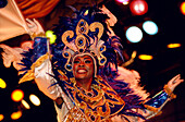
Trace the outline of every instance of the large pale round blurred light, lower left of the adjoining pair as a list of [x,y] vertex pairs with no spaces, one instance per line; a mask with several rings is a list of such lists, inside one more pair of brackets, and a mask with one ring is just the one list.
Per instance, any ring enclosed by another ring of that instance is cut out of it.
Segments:
[[138,42],[143,38],[143,32],[136,26],[132,26],[126,30],[126,38],[131,42]]

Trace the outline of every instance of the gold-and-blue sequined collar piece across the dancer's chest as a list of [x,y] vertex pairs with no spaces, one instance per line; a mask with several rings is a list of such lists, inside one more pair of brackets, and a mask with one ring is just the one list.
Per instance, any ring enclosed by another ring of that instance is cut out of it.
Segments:
[[103,84],[103,80],[98,76],[97,84],[91,85],[92,96],[87,95],[85,90],[78,88],[75,78],[71,78],[73,86],[67,86],[76,107],[83,111],[90,122],[110,122],[110,118],[118,114],[125,106],[125,102],[118,94],[108,85]]

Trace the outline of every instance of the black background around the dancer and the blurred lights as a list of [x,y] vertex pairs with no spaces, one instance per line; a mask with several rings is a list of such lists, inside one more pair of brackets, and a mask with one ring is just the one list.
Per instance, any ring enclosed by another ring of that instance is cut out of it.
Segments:
[[[128,5],[123,5],[113,0],[106,2],[107,8],[118,17],[119,22],[113,27],[115,34],[121,37],[126,52],[125,61],[131,58],[134,50],[138,54],[152,54],[153,60],[144,61],[138,57],[135,61],[126,66],[134,69],[140,73],[141,85],[152,95],[160,91],[164,84],[168,83],[176,74],[182,74],[184,78],[184,37],[185,37],[185,16],[180,11],[180,4],[183,0],[147,0],[148,12],[144,15],[133,15]],[[81,8],[87,3],[79,4],[78,2],[73,5]],[[60,13],[60,11],[65,11]],[[66,15],[67,9],[64,2],[61,1],[59,5],[46,17],[39,19],[45,29],[52,28],[52,24],[57,23],[58,16]],[[53,13],[57,16],[53,16]],[[144,30],[144,37],[140,42],[131,44],[125,38],[125,30],[132,25],[141,28],[144,21],[150,20],[157,23],[159,32],[157,35],[149,36]],[[15,46],[17,39],[25,39],[27,36],[20,36],[11,39],[9,45]],[[180,42],[182,47],[169,49],[168,44]],[[2,122],[57,122],[55,110],[51,99],[46,97],[38,90],[34,82],[27,82],[18,85],[18,76],[15,69],[12,66],[5,69],[0,60],[0,78],[7,83],[7,88],[0,88],[0,113],[4,114]],[[13,89],[21,88],[25,96],[24,99],[29,103],[30,109],[26,110],[22,107],[21,102],[11,100],[11,93]],[[161,115],[148,120],[148,122],[183,122],[185,121],[185,84],[182,83],[176,87],[175,91],[177,98],[168,102],[163,108]],[[28,99],[30,94],[35,94],[40,98],[41,105],[36,107],[32,105]],[[23,110],[23,115],[18,120],[11,120],[10,114],[17,110]]]

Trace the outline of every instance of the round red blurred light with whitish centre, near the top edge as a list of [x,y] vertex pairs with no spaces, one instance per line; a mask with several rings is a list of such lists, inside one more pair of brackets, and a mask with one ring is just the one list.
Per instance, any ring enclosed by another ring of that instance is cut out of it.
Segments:
[[145,0],[134,0],[130,4],[131,12],[135,15],[143,15],[148,11],[148,3]]

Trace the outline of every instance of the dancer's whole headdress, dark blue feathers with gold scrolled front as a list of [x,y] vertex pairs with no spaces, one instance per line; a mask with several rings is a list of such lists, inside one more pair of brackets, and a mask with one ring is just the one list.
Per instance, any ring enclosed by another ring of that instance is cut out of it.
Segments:
[[[121,44],[118,36],[110,36],[108,19],[107,14],[97,8],[82,9],[75,12],[72,19],[61,17],[54,28],[55,44],[51,47],[53,68],[69,74],[72,71],[73,58],[83,53],[91,56],[95,68],[106,68],[107,72],[110,63],[116,65],[116,52],[121,53]],[[95,69],[98,74],[101,72],[99,69]]]

